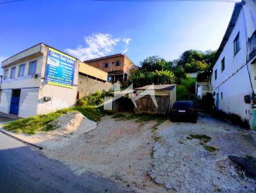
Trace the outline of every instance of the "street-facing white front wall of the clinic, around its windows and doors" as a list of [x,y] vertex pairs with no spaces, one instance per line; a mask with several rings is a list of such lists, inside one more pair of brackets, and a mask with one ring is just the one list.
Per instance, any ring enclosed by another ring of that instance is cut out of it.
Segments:
[[[36,47],[36,49],[38,49]],[[28,51],[27,51],[28,52]],[[30,53],[30,52],[29,52]],[[24,54],[20,54],[20,56],[25,56]],[[15,56],[15,58],[19,59],[19,54]],[[14,61],[12,65],[5,61],[5,65],[3,67],[3,75],[4,70],[8,69],[8,79],[3,80],[1,84],[1,100],[0,100],[0,111],[9,113],[10,112],[10,104],[12,98],[12,89],[20,89],[20,102],[19,102],[19,114],[18,116],[22,118],[26,118],[28,116],[36,115],[37,108],[37,100],[38,100],[38,91],[40,87],[40,76],[42,72],[42,64],[43,64],[44,56],[40,54],[35,54],[33,56],[29,55],[25,59],[19,59],[18,61]],[[7,61],[13,61],[13,58],[8,59]],[[36,61],[36,73],[38,73],[39,77],[34,79],[31,75],[28,75],[29,63],[31,61]],[[18,77],[19,73],[19,65],[25,64],[24,76]],[[16,66],[15,77],[10,79],[11,68]]]

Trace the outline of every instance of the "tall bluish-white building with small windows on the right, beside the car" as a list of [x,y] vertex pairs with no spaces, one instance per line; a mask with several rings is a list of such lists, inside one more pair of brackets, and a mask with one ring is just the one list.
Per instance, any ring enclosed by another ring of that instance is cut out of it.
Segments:
[[239,115],[255,128],[256,1],[236,3],[212,66],[210,84],[218,110]]

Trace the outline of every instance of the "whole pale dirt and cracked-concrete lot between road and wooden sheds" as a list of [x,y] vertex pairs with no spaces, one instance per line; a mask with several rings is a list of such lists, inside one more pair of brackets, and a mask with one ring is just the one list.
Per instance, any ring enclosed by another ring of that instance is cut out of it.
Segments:
[[[96,125],[78,120],[77,130],[71,124],[72,132],[58,128],[54,137],[51,132],[17,136],[38,140],[47,157],[60,160],[78,175],[91,171],[138,192],[255,191],[255,181],[227,158],[256,157],[256,144],[238,127],[209,116],[200,116],[196,124],[167,120],[157,130],[153,130],[156,121],[105,116]],[[209,139],[196,139],[195,134]],[[206,146],[217,149],[209,151]]]

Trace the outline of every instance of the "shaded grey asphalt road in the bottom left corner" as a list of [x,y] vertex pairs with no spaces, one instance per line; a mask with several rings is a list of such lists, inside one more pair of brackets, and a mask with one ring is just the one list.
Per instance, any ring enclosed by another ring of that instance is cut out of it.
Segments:
[[127,192],[92,173],[80,176],[57,160],[0,132],[0,192]]

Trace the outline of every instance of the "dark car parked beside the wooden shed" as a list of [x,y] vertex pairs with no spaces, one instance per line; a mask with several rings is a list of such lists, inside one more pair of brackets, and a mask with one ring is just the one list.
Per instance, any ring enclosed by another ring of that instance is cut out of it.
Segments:
[[197,111],[192,101],[180,100],[174,102],[171,109],[171,121],[175,121],[177,118],[183,118],[196,123]]

